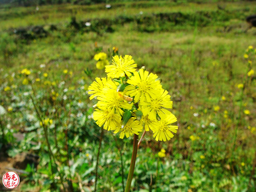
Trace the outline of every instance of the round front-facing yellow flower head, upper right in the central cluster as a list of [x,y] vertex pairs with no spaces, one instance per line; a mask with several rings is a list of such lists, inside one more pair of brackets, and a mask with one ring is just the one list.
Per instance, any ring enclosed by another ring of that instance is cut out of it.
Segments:
[[148,71],[140,69],[139,72],[135,72],[127,83],[130,85],[125,87],[125,94],[134,97],[134,101],[141,102],[150,101],[153,96],[159,93],[162,89],[160,80],[157,80],[158,76]]

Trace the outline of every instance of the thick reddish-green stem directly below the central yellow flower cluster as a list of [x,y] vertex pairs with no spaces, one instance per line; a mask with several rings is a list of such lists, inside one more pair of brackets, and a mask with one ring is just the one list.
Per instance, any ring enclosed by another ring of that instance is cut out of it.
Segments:
[[131,188],[131,183],[133,179],[133,173],[134,173],[134,168],[135,168],[135,162],[136,162],[136,156],[137,156],[137,151],[138,151],[138,135],[134,134],[134,139],[133,139],[133,154],[132,154],[132,159],[131,159],[131,165],[129,169],[129,174],[125,186],[125,192],[130,192]]

